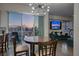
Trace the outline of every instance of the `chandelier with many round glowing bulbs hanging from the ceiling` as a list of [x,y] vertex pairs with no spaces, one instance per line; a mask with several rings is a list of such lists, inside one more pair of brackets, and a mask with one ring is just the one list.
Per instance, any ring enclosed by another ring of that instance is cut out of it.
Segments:
[[30,3],[29,6],[33,15],[46,15],[50,11],[50,7],[43,3]]

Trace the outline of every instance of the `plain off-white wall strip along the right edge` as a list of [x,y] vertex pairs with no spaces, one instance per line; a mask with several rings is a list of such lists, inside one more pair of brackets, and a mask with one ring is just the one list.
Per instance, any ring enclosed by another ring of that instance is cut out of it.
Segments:
[[79,4],[74,4],[74,55],[79,56]]

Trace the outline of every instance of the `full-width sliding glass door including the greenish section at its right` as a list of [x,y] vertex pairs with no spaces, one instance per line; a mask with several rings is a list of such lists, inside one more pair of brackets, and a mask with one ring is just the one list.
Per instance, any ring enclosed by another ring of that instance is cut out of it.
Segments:
[[21,42],[26,35],[44,36],[43,19],[43,16],[9,12],[9,33],[16,33],[17,42]]

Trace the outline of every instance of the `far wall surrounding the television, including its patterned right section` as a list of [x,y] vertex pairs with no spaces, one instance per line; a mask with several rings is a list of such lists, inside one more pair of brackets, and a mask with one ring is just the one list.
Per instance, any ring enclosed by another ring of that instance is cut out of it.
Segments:
[[[64,33],[69,33],[70,29],[73,29],[73,17],[72,16],[54,16],[54,15],[49,15],[49,20],[60,20],[62,22],[61,25],[61,30],[51,30],[50,32],[54,31],[54,32],[63,32]],[[50,26],[50,24],[49,24]],[[71,35],[73,36],[73,35]]]

